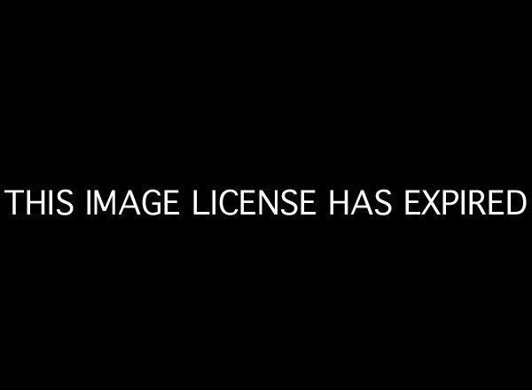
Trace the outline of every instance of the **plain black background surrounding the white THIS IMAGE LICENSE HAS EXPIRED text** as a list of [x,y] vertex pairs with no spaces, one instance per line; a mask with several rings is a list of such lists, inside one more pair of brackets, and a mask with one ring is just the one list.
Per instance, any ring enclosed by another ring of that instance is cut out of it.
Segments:
[[[408,218],[402,193],[529,196],[525,26],[478,10],[219,11],[13,21],[2,189],[316,188],[320,215],[4,213],[11,366],[328,384],[520,370],[529,211]],[[329,189],[379,188],[390,217],[326,216]]]

